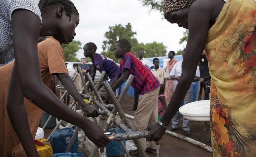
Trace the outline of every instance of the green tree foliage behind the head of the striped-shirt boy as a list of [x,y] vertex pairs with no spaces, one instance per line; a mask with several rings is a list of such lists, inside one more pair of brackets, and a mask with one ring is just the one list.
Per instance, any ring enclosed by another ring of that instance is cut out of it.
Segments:
[[145,57],[156,57],[166,55],[166,46],[163,43],[152,42],[152,43],[139,43],[135,35],[137,33],[132,31],[131,23],[125,26],[121,24],[115,26],[109,26],[109,31],[105,32],[103,41],[103,52],[105,56],[115,60],[118,59],[114,56],[114,44],[119,39],[127,39],[131,43],[131,52],[135,55],[143,50],[145,52]]

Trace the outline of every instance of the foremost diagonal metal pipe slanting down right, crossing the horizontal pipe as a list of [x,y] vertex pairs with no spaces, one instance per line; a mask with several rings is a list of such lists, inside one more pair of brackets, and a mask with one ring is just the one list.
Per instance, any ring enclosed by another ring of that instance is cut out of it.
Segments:
[[[132,76],[132,75],[130,75],[130,76]],[[130,76],[129,76],[129,78],[130,78]],[[134,77],[134,76],[133,76],[133,77]],[[132,78],[132,80],[133,80],[133,78]],[[129,81],[132,82],[132,80],[129,80]],[[130,83],[131,83],[131,82],[130,82]],[[116,99],[116,97],[115,97],[114,92],[112,91],[112,89],[111,89],[111,87],[110,87],[110,85],[109,85],[109,82],[108,82],[108,81],[104,81],[102,84],[103,84],[103,86],[105,87],[106,91],[108,92],[109,97],[110,97],[111,101],[113,102],[113,104],[114,104],[114,106],[115,106],[115,108],[113,108],[113,110],[116,109],[117,112],[118,112],[119,115],[120,115],[121,120],[124,121],[124,123],[125,123],[126,126],[128,126],[130,129],[132,129],[132,126],[131,126],[131,124],[129,123],[128,118],[125,116],[124,111],[122,110],[122,108],[121,108],[119,102],[117,101],[117,99]],[[113,111],[113,110],[112,110],[112,111]],[[104,130],[103,130],[103,131],[104,131]],[[141,155],[142,157],[146,157],[146,156],[147,156],[147,155],[146,155],[146,152],[143,150],[143,148],[142,148],[142,146],[141,146],[139,140],[138,140],[138,139],[134,139],[133,141],[134,141],[134,144],[136,145],[136,147],[137,147],[137,149],[138,149],[140,155]]]

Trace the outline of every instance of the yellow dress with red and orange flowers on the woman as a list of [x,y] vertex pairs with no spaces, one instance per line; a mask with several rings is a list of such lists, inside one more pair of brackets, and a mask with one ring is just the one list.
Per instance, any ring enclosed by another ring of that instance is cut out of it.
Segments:
[[229,0],[208,32],[213,156],[256,156],[256,2]]

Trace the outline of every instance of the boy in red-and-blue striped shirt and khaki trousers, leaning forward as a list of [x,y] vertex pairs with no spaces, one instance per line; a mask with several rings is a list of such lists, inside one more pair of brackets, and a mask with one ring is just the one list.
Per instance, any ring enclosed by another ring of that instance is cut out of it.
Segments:
[[[113,91],[116,90],[126,81],[130,74],[135,76],[131,85],[140,94],[140,98],[138,108],[134,114],[134,123],[136,131],[142,131],[147,128],[148,124],[157,123],[157,99],[160,90],[160,83],[152,72],[143,65],[134,54],[130,53],[131,44],[128,40],[118,40],[114,47],[115,57],[122,58],[122,61],[119,67],[119,72],[111,83],[111,88]],[[101,94],[101,97],[106,99],[108,94],[104,92]],[[156,154],[155,142],[150,142],[150,146],[146,148],[146,139],[141,138],[139,140],[144,150]],[[133,156],[140,156],[138,150],[130,150],[129,153]]]

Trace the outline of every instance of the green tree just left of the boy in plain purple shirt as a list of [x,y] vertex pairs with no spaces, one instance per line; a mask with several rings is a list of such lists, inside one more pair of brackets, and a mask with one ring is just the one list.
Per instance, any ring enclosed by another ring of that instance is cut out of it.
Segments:
[[65,61],[80,61],[76,58],[77,51],[81,49],[82,43],[79,40],[73,40],[69,44],[61,44],[64,51]]

